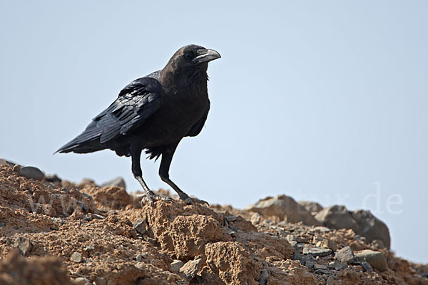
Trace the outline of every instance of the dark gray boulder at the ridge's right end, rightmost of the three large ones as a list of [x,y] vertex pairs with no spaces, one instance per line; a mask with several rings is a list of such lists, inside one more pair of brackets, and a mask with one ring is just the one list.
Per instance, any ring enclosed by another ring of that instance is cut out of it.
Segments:
[[358,234],[367,237],[368,242],[380,239],[387,249],[391,248],[391,237],[389,236],[387,225],[377,217],[374,217],[372,212],[362,209],[355,210],[352,212],[352,217],[360,229]]

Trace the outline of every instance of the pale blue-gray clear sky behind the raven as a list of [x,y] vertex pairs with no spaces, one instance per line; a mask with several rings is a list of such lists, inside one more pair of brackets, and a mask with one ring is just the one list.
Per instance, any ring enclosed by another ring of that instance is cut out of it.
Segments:
[[[398,256],[427,263],[428,2],[230,2],[1,1],[0,157],[140,189],[128,157],[52,153],[196,43],[222,58],[173,181],[238,208],[285,194],[370,209]],[[143,175],[168,189],[158,163]]]

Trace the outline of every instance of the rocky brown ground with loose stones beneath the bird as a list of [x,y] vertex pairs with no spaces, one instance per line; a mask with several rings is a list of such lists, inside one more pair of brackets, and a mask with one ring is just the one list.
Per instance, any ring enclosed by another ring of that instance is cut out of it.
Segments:
[[121,183],[0,160],[0,284],[428,284],[367,211],[287,196],[141,207]]

